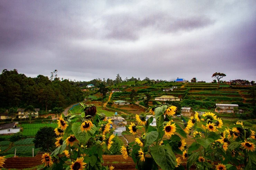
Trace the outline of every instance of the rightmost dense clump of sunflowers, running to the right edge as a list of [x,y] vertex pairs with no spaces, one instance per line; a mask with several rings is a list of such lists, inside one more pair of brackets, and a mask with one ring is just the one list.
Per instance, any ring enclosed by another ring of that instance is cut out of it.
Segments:
[[[183,159],[188,157],[187,169],[192,164],[198,169],[256,168],[255,132],[239,121],[225,129],[222,126],[222,120],[211,112],[196,112],[184,123],[184,131],[195,141],[183,151]],[[214,165],[214,161],[220,163]]]

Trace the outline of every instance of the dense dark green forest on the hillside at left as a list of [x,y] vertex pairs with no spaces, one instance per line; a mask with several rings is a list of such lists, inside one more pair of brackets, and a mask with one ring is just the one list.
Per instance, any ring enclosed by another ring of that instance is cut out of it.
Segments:
[[28,105],[42,110],[67,107],[83,100],[79,85],[69,80],[60,81],[38,75],[36,78],[19,74],[16,69],[0,74],[0,109],[26,108]]

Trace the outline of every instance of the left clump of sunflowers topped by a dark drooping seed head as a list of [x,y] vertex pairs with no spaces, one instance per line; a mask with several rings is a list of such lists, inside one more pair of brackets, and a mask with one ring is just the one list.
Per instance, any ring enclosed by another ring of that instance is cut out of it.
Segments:
[[60,116],[56,135],[55,149],[51,154],[42,156],[41,169],[101,169],[113,170],[114,167],[102,166],[102,152],[110,149],[115,137],[109,134],[111,119],[103,113],[96,113],[96,107],[84,105],[80,115],[70,112]]

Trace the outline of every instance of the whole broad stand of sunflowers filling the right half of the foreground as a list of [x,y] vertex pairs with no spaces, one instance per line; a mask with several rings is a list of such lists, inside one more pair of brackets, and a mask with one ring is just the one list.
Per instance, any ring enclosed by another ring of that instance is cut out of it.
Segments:
[[[184,169],[182,159],[187,169],[192,165],[202,170],[256,169],[255,132],[242,122],[223,128],[212,112],[196,112],[188,121],[176,118],[179,122],[174,122],[175,111],[175,106],[163,104],[136,115],[137,123],[129,126],[135,141],[122,146],[122,156],[132,157],[138,169]],[[150,125],[153,117],[149,115],[155,117],[156,127]],[[195,141],[189,147],[187,137]]]

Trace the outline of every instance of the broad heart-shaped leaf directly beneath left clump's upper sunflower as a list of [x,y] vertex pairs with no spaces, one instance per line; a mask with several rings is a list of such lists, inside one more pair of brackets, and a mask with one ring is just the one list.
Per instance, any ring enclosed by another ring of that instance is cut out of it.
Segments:
[[93,124],[93,127],[91,128],[91,130],[85,132],[85,131],[81,131],[81,122],[76,122],[73,123],[72,125],[72,131],[76,137],[77,140],[79,140],[82,143],[86,143],[90,137],[96,132],[97,128],[95,127],[95,125]]

